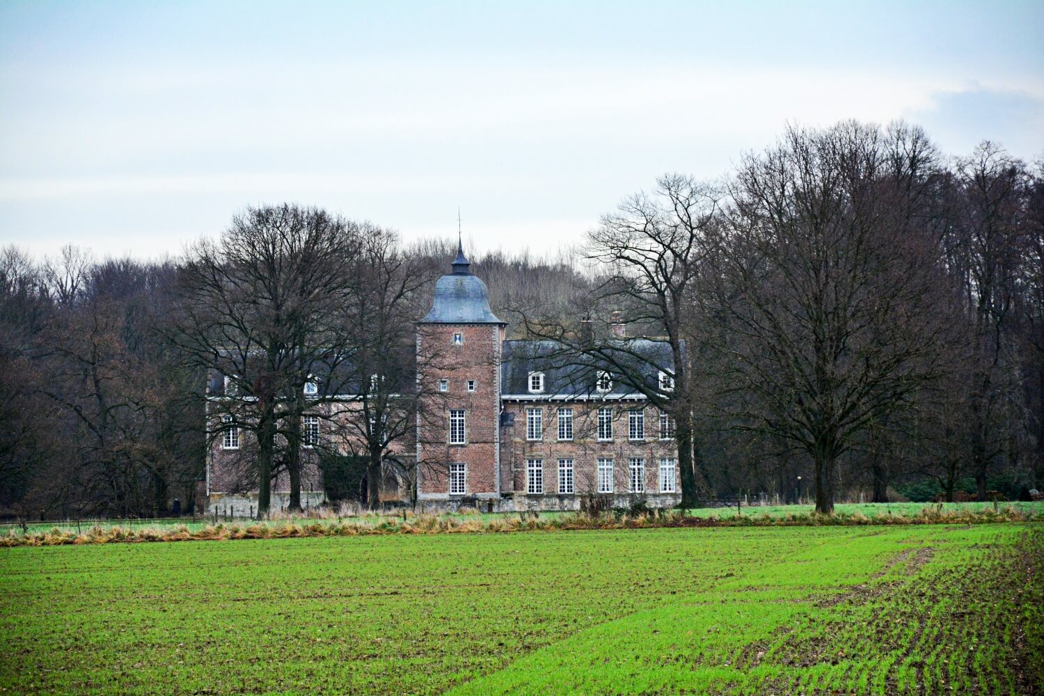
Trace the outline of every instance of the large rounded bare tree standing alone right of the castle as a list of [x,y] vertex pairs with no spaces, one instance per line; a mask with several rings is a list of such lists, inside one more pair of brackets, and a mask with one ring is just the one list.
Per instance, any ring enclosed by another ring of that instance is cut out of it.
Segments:
[[933,162],[916,129],[790,127],[744,158],[733,187],[734,232],[708,288],[733,428],[805,452],[823,513],[838,458],[942,370],[946,283],[907,205]]

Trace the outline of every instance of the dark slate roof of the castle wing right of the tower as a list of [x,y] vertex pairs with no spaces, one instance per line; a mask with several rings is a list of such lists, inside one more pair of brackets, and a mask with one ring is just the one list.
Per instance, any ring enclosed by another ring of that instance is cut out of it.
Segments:
[[[674,360],[667,341],[626,338],[609,343],[604,352],[606,358],[598,359],[577,355],[557,341],[504,341],[500,366],[501,393],[529,395],[529,373],[544,373],[544,397],[619,399],[638,393],[634,384],[625,383],[620,378],[620,366],[628,373],[641,375],[642,382],[649,389],[657,387],[660,371],[673,373]],[[595,389],[595,380],[602,370],[613,378],[613,388],[604,393]]]

